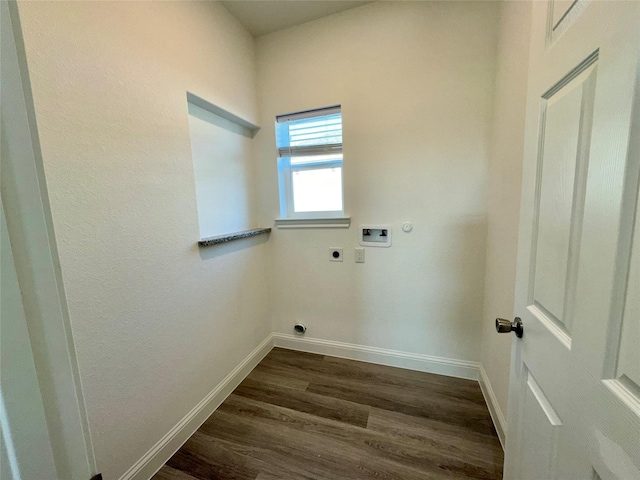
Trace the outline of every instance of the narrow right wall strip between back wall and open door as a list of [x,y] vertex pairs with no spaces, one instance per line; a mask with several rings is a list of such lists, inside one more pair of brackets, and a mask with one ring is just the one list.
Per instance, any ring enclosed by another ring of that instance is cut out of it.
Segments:
[[514,317],[530,23],[530,2],[503,2],[489,157],[487,266],[480,359],[505,417],[513,335],[498,335],[494,320]]

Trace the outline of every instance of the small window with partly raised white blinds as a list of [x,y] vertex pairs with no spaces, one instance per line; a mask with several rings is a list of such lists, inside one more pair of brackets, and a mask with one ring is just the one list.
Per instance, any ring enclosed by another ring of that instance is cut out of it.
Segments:
[[276,146],[281,216],[344,216],[340,105],[278,115]]

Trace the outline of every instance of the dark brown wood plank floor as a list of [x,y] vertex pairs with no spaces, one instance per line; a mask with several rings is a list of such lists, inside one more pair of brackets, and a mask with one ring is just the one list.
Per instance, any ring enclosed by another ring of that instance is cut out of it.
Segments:
[[280,348],[154,480],[502,478],[477,382]]

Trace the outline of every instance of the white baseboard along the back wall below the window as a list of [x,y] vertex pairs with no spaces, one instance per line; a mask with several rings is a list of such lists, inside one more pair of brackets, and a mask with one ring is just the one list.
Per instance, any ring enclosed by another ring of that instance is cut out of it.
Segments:
[[466,360],[435,357],[419,353],[400,352],[385,348],[368,347],[352,343],[333,342],[319,338],[299,337],[283,333],[273,334],[274,346],[302,352],[331,355],[333,357],[406,368],[420,372],[437,373],[449,377],[478,380],[480,364]]

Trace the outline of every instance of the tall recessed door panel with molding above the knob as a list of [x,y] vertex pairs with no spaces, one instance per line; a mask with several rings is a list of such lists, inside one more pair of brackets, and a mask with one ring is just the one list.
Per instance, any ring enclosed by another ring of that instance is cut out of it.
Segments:
[[[568,349],[598,54],[596,50],[570,70],[540,100],[529,311]],[[560,132],[562,128],[566,130]]]

